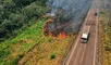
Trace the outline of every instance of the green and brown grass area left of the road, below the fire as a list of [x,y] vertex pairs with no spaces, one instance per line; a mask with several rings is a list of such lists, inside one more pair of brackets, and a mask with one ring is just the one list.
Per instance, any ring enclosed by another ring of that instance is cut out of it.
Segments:
[[14,39],[1,42],[0,65],[61,65],[74,38],[45,37],[44,23],[45,20],[36,21]]

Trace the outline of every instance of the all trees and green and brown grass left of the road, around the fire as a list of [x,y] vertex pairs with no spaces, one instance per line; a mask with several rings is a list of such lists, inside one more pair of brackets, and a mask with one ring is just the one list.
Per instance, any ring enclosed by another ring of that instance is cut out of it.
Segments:
[[61,65],[75,37],[44,36],[45,2],[0,1],[0,65]]

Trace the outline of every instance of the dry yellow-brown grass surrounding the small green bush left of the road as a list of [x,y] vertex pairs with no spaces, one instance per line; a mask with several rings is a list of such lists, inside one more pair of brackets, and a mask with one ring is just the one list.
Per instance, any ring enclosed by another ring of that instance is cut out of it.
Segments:
[[[61,65],[69,48],[71,47],[71,39],[51,39],[36,46],[18,62],[18,65]],[[50,54],[54,53],[55,58],[50,60]]]

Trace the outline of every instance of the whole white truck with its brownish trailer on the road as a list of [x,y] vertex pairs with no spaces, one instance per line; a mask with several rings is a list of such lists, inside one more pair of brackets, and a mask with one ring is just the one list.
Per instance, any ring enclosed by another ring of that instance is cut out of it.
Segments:
[[82,43],[87,43],[89,39],[89,28],[90,26],[87,26],[86,30],[82,32],[82,37],[81,37]]

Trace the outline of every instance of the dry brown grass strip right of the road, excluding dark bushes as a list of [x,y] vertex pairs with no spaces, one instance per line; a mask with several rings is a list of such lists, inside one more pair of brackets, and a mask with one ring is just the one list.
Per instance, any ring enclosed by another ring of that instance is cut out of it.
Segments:
[[[108,28],[108,22],[109,22],[109,14],[108,12],[104,12],[104,14],[100,14],[100,64],[101,65],[111,65],[111,53],[109,51],[106,50],[106,47],[108,47],[108,43],[111,43],[111,41],[109,42],[108,40],[111,40],[111,38],[109,37],[109,34],[107,32],[108,30],[110,30],[110,28]],[[107,28],[107,30],[104,30],[104,28]]]

